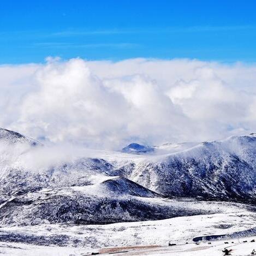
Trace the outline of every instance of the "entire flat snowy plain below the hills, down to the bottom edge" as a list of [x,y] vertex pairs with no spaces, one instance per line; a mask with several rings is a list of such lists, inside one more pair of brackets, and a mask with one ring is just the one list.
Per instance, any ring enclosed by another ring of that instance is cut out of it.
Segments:
[[[256,236],[256,213],[236,210],[108,225],[4,227],[0,229],[0,240],[3,241],[0,252],[4,255],[90,255],[92,252],[121,251],[126,252],[122,253],[124,255],[222,255],[221,249],[232,246],[236,249],[234,252],[238,253],[232,255],[248,255],[254,246],[256,248],[256,243],[250,242],[253,237],[246,236]],[[195,242],[197,240],[200,245]],[[245,240],[248,242],[243,243]],[[225,244],[225,241],[229,241],[229,244]],[[168,246],[169,242],[176,246]],[[241,245],[236,245],[238,242]],[[52,246],[53,243],[58,246]],[[160,247],[126,248],[152,245]],[[105,247],[124,248],[106,250],[103,249]]]

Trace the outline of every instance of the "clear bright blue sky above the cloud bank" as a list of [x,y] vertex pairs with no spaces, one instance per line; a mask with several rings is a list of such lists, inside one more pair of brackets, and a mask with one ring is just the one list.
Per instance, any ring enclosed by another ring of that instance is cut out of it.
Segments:
[[256,1],[0,3],[0,63],[135,57],[256,61]]

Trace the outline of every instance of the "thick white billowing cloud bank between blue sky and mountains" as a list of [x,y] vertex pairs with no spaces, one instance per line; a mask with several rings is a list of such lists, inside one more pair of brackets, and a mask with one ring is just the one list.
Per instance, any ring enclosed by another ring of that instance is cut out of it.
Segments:
[[255,83],[253,64],[47,58],[0,66],[0,123],[92,148],[222,139],[256,130]]

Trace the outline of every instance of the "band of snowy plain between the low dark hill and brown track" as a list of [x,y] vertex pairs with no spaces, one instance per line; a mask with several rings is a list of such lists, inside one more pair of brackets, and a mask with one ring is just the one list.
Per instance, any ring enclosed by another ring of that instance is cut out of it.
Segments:
[[[212,237],[206,241],[213,243],[219,236],[219,239],[223,239],[220,241],[224,248],[229,246],[224,245],[224,241],[228,239],[236,242],[239,237],[255,236],[255,218],[255,213],[234,209],[231,212],[177,217],[162,221],[2,227],[0,241],[26,242],[39,246],[76,246],[76,249],[82,250],[81,253],[90,253],[104,252],[99,249],[104,247],[168,246],[169,242],[177,245],[184,245],[187,242],[190,246],[197,247],[193,241],[197,237]],[[53,250],[52,255],[54,253],[56,252]]]

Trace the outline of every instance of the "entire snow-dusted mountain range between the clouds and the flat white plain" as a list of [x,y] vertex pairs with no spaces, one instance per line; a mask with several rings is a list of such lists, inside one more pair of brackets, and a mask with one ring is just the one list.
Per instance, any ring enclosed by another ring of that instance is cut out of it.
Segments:
[[0,134],[1,225],[112,223],[223,212],[219,206],[188,204],[186,198],[256,201],[254,134],[154,146],[154,152],[143,154],[85,150],[58,160],[55,151],[36,147],[26,136],[5,129]]

